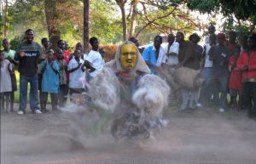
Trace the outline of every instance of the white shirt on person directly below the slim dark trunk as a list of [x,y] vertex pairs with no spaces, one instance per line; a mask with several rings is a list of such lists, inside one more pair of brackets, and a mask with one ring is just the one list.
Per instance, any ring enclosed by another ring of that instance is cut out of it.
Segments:
[[102,71],[102,55],[98,51],[90,50],[90,53],[87,55],[85,60],[91,63],[91,66],[94,67],[96,70],[90,72],[90,76],[96,76],[100,71]]

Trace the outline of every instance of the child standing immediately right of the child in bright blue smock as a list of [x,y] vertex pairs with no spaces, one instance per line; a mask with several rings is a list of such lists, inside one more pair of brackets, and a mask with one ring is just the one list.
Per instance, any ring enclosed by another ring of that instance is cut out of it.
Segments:
[[67,102],[67,76],[66,76],[66,71],[67,71],[67,64],[66,61],[63,59],[63,51],[61,48],[57,48],[56,50],[56,61],[59,65],[60,68],[60,94],[59,94],[59,105],[60,107],[63,107],[64,104]]

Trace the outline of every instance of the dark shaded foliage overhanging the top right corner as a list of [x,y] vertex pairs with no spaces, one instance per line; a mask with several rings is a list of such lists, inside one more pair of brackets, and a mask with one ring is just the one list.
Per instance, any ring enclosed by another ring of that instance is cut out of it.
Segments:
[[225,17],[223,31],[237,31],[238,37],[255,31],[256,1],[253,0],[169,0],[186,4],[192,10],[212,16],[221,13]]

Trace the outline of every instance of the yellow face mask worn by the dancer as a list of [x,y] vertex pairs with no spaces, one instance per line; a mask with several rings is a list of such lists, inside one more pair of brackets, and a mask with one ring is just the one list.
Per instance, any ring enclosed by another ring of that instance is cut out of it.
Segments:
[[121,48],[120,63],[125,71],[131,71],[137,65],[137,48],[132,43],[124,44]]

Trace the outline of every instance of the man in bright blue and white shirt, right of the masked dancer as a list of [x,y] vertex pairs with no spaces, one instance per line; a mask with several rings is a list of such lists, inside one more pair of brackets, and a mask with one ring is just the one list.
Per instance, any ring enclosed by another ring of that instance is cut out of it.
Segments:
[[166,58],[166,51],[161,47],[161,43],[162,37],[155,36],[154,44],[148,46],[148,48],[143,51],[143,59],[153,74],[156,74],[156,69],[165,62],[164,59]]

